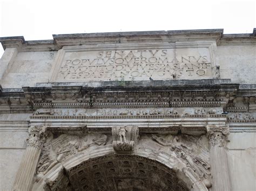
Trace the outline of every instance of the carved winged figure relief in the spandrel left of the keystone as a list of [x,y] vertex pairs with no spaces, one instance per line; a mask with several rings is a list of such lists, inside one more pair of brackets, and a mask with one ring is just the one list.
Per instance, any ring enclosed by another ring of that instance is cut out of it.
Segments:
[[53,134],[50,132],[43,145],[37,165],[37,180],[58,162],[62,162],[70,155],[86,152],[89,147],[105,145],[106,143],[107,136],[104,134],[90,133],[84,136],[61,134],[53,138]]

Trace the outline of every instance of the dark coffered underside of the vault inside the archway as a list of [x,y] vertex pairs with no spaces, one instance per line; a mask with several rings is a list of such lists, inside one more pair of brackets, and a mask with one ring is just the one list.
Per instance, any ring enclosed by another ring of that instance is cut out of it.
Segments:
[[189,190],[173,169],[138,155],[109,154],[66,170],[73,190]]

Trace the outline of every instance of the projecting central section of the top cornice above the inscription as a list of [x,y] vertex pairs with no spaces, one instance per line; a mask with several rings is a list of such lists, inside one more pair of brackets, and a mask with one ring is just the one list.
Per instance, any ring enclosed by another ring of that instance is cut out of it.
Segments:
[[180,30],[180,31],[142,31],[142,32],[107,32],[82,34],[53,34],[59,47],[123,44],[123,43],[174,43],[178,41],[218,40],[223,30]]

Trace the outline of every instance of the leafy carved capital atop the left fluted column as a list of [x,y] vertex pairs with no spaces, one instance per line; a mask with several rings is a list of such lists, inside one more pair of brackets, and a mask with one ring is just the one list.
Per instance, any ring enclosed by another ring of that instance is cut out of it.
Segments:
[[41,147],[46,137],[46,129],[46,126],[30,126],[29,138],[26,139],[28,145]]

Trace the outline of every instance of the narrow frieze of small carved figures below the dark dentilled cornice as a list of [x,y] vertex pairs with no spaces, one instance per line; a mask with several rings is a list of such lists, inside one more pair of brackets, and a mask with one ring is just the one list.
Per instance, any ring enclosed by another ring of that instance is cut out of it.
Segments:
[[174,116],[189,115],[203,116],[221,114],[221,108],[114,108],[114,109],[38,109],[31,118],[62,117],[147,117],[147,116]]

